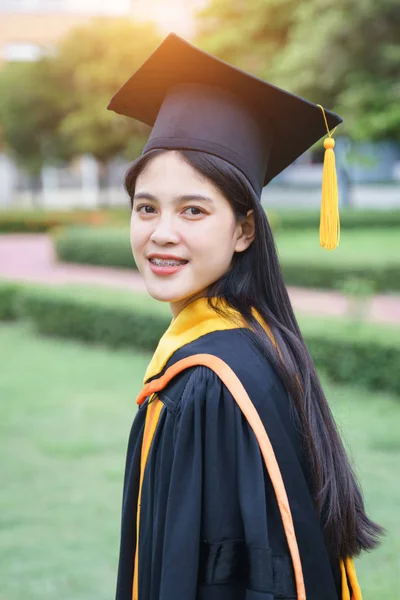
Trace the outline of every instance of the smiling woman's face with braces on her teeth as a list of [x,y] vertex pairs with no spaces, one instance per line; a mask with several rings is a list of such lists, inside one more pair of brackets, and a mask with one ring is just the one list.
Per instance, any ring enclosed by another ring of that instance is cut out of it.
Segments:
[[150,296],[169,302],[174,316],[203,296],[253,238],[252,211],[238,222],[224,195],[179,152],[156,156],[138,176],[133,256]]

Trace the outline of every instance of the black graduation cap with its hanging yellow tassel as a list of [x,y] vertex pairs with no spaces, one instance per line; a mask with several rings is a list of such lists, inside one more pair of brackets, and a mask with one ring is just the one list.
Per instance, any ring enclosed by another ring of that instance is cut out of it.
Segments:
[[328,133],[321,245],[339,242],[331,130],[342,122],[323,109],[196,48],[170,33],[111,99],[108,109],[152,127],[143,154],[199,150],[234,165],[257,197],[271,179]]

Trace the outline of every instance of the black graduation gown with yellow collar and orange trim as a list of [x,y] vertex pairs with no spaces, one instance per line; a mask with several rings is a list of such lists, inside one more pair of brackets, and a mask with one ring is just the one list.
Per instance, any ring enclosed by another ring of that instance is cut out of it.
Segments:
[[[328,556],[314,508],[296,411],[235,316],[233,322],[217,315],[205,298],[189,304],[161,338],[144,382],[197,354],[229,365],[262,420],[282,474],[307,600],[348,599],[349,573],[339,557]],[[351,597],[361,598],[354,573],[351,585]],[[227,387],[205,366],[185,369],[146,397],[133,422],[116,600],[132,598],[297,598],[288,541],[256,436]]]

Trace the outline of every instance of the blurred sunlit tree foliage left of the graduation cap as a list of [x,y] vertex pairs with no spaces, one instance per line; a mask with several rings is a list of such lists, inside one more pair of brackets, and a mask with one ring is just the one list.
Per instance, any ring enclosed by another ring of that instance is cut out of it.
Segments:
[[44,163],[83,153],[106,164],[135,157],[147,126],[107,111],[111,96],[159,44],[150,24],[96,19],[37,62],[0,71],[0,130],[18,162],[37,175]]

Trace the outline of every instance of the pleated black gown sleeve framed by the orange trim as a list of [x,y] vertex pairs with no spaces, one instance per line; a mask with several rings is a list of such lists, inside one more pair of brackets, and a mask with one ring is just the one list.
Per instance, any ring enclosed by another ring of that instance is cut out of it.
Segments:
[[[161,452],[168,419],[170,461]],[[284,534],[274,527],[275,552],[269,540],[268,478],[257,440],[213,371],[193,369],[162,427],[154,472],[168,489],[157,493],[156,486],[152,499],[162,529],[152,600],[295,597]]]

